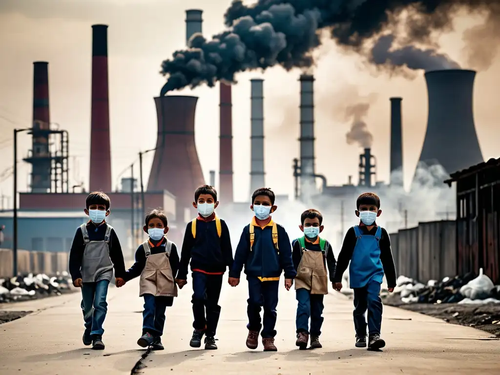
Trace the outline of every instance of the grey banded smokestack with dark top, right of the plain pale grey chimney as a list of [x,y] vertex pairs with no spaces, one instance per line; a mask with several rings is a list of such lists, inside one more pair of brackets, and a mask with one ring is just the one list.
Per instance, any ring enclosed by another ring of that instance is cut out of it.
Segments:
[[314,182],[314,77],[300,75],[300,196],[315,193]]

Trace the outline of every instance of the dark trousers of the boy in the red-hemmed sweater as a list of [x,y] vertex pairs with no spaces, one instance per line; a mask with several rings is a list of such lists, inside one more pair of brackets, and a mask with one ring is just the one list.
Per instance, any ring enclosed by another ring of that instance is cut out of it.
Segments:
[[[192,313],[194,329],[205,330],[207,336],[215,336],[220,316],[218,299],[222,287],[222,275],[192,272]],[[205,315],[206,309],[206,315]]]

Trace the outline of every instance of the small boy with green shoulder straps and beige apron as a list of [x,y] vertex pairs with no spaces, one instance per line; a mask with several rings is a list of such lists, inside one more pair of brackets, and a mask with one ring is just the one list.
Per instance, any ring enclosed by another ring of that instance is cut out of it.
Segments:
[[[295,276],[295,294],[297,298],[297,341],[300,349],[307,347],[310,333],[310,348],[322,347],[319,342],[323,323],[323,296],[328,294],[328,274],[333,282],[335,256],[328,241],[319,237],[323,231],[323,216],[318,210],[307,209],[300,215],[299,228],[304,232],[300,238],[292,241],[293,266]],[[326,271],[328,266],[328,272]],[[309,317],[311,326],[309,332]]]

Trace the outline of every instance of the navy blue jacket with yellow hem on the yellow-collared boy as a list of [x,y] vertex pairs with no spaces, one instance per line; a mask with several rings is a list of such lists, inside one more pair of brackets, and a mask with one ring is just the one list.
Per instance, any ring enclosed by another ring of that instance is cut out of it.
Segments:
[[[253,222],[253,220],[252,220]],[[241,269],[245,268],[247,276],[259,277],[262,281],[279,280],[284,270],[285,278],[294,278],[297,274],[291,258],[290,238],[286,230],[277,224],[278,250],[272,242],[272,220],[263,228],[254,225],[253,247],[250,249],[250,225],[243,228],[239,237],[234,262],[229,277],[239,278]]]

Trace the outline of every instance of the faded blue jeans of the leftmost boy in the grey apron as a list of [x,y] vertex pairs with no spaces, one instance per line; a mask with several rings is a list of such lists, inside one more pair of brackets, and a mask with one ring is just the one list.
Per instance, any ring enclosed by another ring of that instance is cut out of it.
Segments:
[[81,309],[85,321],[85,331],[91,336],[101,336],[104,333],[102,324],[107,312],[107,287],[109,280],[84,282],[81,286]]

